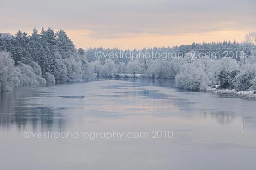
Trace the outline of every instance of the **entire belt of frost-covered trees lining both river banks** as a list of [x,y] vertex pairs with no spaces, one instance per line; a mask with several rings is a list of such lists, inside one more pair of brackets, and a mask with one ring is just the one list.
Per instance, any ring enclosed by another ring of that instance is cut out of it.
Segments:
[[[190,90],[216,85],[237,91],[254,90],[255,48],[255,32],[247,34],[244,43],[203,42],[141,50],[76,49],[62,29],[42,29],[40,33],[34,29],[31,35],[21,31],[15,35],[0,33],[0,91],[17,85],[91,81],[96,76],[168,78],[174,79],[177,87]],[[120,56],[152,52],[176,53],[178,58]],[[218,53],[217,58],[209,56],[213,53]]]

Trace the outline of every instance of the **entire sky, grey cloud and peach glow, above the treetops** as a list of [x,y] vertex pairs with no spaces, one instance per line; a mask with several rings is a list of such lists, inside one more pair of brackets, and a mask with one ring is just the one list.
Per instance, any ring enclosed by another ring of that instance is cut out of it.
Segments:
[[0,32],[60,28],[77,48],[243,41],[256,0],[0,0]]

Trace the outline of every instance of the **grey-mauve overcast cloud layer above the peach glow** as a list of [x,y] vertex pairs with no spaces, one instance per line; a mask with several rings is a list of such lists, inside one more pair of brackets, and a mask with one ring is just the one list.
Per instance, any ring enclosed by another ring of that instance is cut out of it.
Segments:
[[0,0],[0,32],[89,30],[94,39],[256,28],[255,0]]

